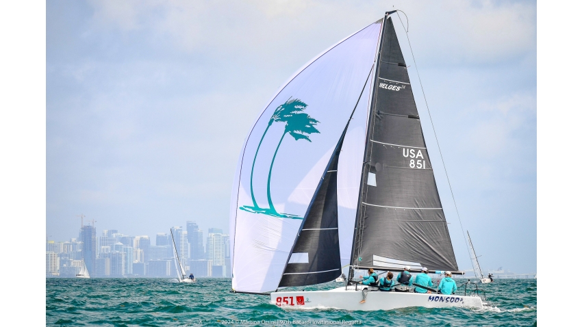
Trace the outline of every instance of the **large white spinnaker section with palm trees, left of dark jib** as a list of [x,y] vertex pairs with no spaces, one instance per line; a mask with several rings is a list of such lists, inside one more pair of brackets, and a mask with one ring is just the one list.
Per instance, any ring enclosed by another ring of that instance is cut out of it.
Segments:
[[[301,225],[301,219],[292,217],[305,216],[333,153],[329,150],[338,143],[374,63],[380,27],[380,23],[369,25],[306,64],[277,92],[247,136],[231,199],[235,291],[277,289]],[[307,104],[304,113],[318,120],[315,127],[319,133],[305,134],[311,142],[295,140],[289,133],[283,136],[285,122],[268,125],[275,109],[289,99]],[[273,165],[270,198],[276,212],[289,218],[240,209],[253,206],[250,185],[255,154],[253,193],[258,207],[270,207],[267,183]],[[315,177],[306,180],[307,174]]]

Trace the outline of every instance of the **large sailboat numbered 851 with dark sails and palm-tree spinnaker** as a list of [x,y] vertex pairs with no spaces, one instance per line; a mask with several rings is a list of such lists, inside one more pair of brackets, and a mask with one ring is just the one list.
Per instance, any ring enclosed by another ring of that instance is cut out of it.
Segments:
[[[230,208],[232,291],[286,309],[482,308],[477,296],[370,291],[355,270],[459,271],[392,12],[275,93],[244,141]],[[349,265],[346,285],[327,283]]]

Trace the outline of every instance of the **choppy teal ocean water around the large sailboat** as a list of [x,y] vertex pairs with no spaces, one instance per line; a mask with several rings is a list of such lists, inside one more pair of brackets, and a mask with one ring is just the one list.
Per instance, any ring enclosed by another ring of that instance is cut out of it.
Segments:
[[[458,280],[457,285],[466,280]],[[286,311],[269,296],[229,293],[226,278],[47,278],[47,326],[536,326],[537,280],[479,285],[492,309]],[[327,283],[306,290],[331,289]],[[458,292],[457,292],[458,293]],[[237,322],[238,321],[238,322]],[[293,322],[295,322],[293,324]]]

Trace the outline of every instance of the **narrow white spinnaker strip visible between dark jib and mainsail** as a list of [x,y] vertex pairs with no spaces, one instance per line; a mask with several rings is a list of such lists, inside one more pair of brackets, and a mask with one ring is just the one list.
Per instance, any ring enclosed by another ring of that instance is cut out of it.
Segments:
[[338,161],[338,235],[342,267],[349,264],[352,251],[359,183],[362,181],[364,168],[362,161],[366,148],[373,74],[372,71],[350,121]]

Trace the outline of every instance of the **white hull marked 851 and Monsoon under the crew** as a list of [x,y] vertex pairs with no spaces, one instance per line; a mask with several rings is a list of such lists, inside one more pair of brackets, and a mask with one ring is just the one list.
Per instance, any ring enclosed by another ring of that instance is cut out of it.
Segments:
[[366,302],[362,300],[362,288],[350,286],[338,287],[329,291],[296,291],[271,293],[271,304],[284,309],[342,309],[350,311],[377,311],[424,306],[440,308],[445,306],[462,306],[483,309],[481,298],[444,294],[400,293],[370,291]]

